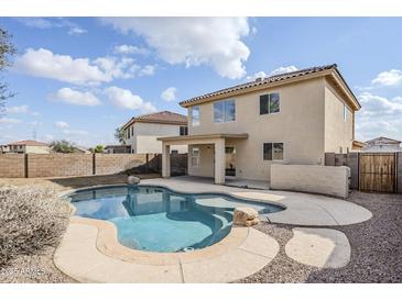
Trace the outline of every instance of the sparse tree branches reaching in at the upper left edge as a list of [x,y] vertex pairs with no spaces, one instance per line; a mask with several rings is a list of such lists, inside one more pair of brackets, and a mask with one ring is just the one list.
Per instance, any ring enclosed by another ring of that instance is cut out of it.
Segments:
[[[0,73],[11,65],[10,57],[17,52],[14,45],[10,41],[11,36],[7,31],[0,29]],[[8,85],[2,82],[0,77],[0,114],[4,107],[6,100],[14,94],[9,91]]]

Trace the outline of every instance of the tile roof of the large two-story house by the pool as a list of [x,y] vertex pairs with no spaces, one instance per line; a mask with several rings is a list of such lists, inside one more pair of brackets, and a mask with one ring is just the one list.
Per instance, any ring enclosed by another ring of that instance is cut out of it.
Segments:
[[[206,93],[206,94],[203,94],[203,96],[199,96],[199,97],[191,98],[188,100],[184,100],[184,101],[180,102],[180,104],[185,107],[186,104],[189,104],[189,103],[198,101],[198,100],[203,100],[203,99],[207,99],[207,98],[211,98],[211,97],[216,97],[216,96],[220,96],[220,94],[226,94],[226,93],[235,92],[235,91],[240,92],[240,90],[245,90],[245,89],[248,89],[248,88],[262,86],[262,85],[267,85],[267,83],[272,83],[272,82],[276,82],[276,81],[282,81],[282,80],[285,80],[285,79],[302,77],[302,76],[306,76],[306,75],[309,75],[309,74],[315,74],[315,73],[319,73],[319,71],[324,71],[324,70],[329,70],[329,69],[336,69],[337,70],[337,65],[332,64],[332,65],[325,65],[325,66],[318,66],[318,67],[311,67],[311,68],[297,70],[297,71],[274,75],[274,76],[270,76],[270,77],[265,77],[265,78],[257,78],[253,81],[237,85],[237,86],[229,87],[229,88],[226,88],[226,89],[221,89],[221,90],[218,90],[218,91],[215,91],[215,92],[211,92],[211,93]],[[340,75],[339,71],[338,71],[338,74]]]

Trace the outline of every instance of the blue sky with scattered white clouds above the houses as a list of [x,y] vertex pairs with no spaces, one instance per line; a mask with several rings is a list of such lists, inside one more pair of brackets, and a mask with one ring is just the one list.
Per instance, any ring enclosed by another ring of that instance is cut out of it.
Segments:
[[359,98],[358,140],[402,140],[401,18],[0,18],[17,92],[0,144],[110,144],[132,115],[270,75],[338,64]]

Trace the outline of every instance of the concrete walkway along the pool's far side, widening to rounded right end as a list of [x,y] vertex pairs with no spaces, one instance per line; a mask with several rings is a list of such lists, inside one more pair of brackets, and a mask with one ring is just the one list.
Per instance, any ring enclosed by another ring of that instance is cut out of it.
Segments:
[[170,179],[148,179],[141,185],[155,185],[178,192],[219,192],[261,202],[273,202],[286,207],[286,210],[261,216],[273,223],[305,226],[336,226],[365,222],[371,219],[369,210],[355,203],[318,194],[253,190],[214,185],[208,179],[195,181],[192,177]]

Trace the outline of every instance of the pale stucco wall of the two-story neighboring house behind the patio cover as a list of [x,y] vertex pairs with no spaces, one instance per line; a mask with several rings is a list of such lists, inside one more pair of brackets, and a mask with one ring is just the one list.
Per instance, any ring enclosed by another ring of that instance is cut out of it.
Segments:
[[[131,145],[135,154],[161,154],[162,142],[156,138],[180,135],[180,125],[174,124],[135,122],[132,126],[134,127],[134,135],[126,144]],[[172,146],[171,150],[177,150],[180,154],[184,154],[187,153],[187,146]]]

